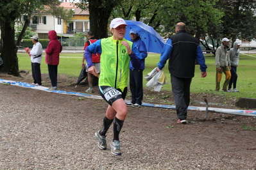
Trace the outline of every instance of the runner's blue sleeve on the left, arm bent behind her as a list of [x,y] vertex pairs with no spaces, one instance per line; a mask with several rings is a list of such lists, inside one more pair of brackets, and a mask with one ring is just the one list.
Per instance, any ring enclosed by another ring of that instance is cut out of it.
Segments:
[[101,40],[98,40],[97,42],[92,43],[91,45],[89,45],[85,48],[85,53],[83,54],[83,57],[85,58],[85,60],[87,62],[88,68],[90,66],[93,66],[92,54],[96,54],[97,52],[99,54],[101,54]]

